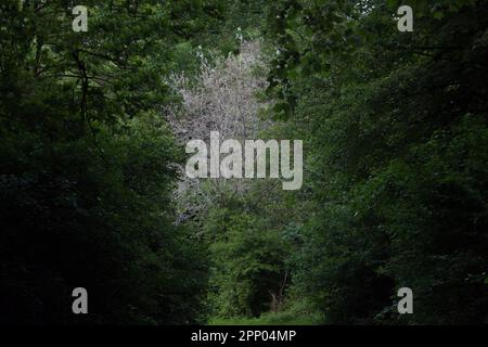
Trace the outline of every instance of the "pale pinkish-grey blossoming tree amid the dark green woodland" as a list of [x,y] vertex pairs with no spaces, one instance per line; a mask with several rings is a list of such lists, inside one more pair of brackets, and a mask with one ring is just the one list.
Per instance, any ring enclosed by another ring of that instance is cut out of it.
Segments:
[[[259,41],[241,41],[241,52],[209,64],[198,51],[201,70],[196,81],[181,75],[171,75],[170,85],[180,93],[182,107],[170,110],[169,124],[181,143],[193,139],[209,143],[210,131],[219,131],[220,140],[244,141],[256,139],[270,126],[258,112],[266,107],[256,97],[267,87],[266,63]],[[256,73],[256,72],[261,73]],[[223,192],[242,194],[243,179],[190,179],[184,176],[175,192],[180,203],[180,220],[202,214]],[[183,202],[183,203],[181,203]]]

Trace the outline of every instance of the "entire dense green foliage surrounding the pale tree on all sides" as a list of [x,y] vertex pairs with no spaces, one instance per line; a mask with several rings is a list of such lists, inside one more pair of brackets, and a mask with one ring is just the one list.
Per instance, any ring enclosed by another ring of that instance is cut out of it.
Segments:
[[[88,33],[74,1],[0,4],[0,323],[488,322],[486,1],[410,1],[413,33],[396,0],[84,4]],[[204,182],[175,222],[167,76],[257,38],[304,187]]]

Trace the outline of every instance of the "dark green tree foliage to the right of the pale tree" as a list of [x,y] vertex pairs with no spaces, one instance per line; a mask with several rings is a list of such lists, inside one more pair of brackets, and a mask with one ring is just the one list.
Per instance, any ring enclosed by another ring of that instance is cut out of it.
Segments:
[[[331,323],[487,320],[487,4],[282,1],[269,92],[305,136],[318,214],[295,284]],[[408,286],[415,313],[400,317]]]

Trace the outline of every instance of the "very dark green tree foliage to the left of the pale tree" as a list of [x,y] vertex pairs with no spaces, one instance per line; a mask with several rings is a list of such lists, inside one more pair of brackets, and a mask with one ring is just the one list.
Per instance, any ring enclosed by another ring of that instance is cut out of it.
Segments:
[[167,49],[201,29],[167,21],[178,3],[87,1],[88,33],[72,1],[0,5],[2,323],[198,319],[202,249],[172,223],[181,150],[156,116]]

